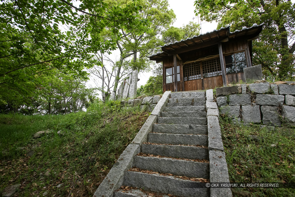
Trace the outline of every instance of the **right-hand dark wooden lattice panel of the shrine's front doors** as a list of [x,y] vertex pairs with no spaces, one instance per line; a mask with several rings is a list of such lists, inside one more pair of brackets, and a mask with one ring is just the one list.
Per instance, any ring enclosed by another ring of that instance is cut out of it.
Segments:
[[222,74],[219,58],[202,61],[203,77],[219,76]]

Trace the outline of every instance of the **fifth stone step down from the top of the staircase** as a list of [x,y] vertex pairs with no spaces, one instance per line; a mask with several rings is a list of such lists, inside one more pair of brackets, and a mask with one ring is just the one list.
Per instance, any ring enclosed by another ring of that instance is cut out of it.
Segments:
[[207,118],[189,117],[158,117],[159,124],[178,124],[178,125],[206,125]]

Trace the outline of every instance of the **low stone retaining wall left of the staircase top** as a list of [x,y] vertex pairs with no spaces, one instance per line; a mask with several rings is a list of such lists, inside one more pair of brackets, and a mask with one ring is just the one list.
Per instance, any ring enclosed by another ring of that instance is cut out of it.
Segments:
[[155,106],[158,104],[162,95],[155,95],[150,97],[137,97],[136,99],[122,100],[121,105],[127,107],[136,107],[140,106],[140,109],[148,110],[149,112],[153,111]]

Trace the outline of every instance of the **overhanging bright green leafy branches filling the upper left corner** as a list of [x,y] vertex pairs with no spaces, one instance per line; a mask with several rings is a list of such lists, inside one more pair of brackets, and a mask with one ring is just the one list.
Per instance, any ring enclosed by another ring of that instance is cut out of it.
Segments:
[[[0,86],[40,84],[38,74],[53,68],[86,79],[83,69],[99,64],[93,54],[115,50],[121,30],[133,35],[152,31],[148,19],[139,15],[138,1],[124,6],[103,0],[79,2],[78,6],[65,0],[1,2]],[[108,39],[100,35],[105,29]],[[29,89],[22,91],[34,96]]]

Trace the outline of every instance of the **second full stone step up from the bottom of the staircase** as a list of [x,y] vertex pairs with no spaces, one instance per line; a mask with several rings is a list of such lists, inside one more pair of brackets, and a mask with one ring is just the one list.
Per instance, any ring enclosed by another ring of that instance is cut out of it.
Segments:
[[209,163],[205,162],[194,162],[167,157],[135,156],[132,166],[142,170],[170,173],[177,176],[209,179]]

